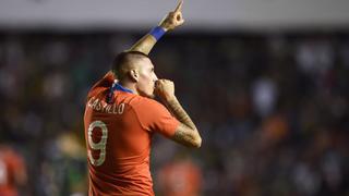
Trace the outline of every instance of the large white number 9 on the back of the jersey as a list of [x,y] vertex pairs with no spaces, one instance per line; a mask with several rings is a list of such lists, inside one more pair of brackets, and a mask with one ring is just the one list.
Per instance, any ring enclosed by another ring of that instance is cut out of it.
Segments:
[[[99,143],[94,143],[92,139],[92,134],[95,127],[99,127],[101,130],[101,139]],[[88,159],[93,166],[100,166],[106,160],[106,146],[107,146],[107,138],[108,138],[108,128],[107,125],[101,121],[94,121],[88,126],[88,145],[94,150],[100,150],[99,159],[95,159],[92,156],[91,150],[88,149]]]

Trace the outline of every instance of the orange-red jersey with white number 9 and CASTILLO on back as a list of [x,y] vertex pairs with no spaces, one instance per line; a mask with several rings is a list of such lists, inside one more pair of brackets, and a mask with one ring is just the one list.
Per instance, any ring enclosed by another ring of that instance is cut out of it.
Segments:
[[[153,133],[171,137],[179,122],[159,102],[127,90],[106,101],[112,74],[88,93],[84,115],[89,195],[154,195],[149,172]],[[121,87],[122,88],[122,87]]]

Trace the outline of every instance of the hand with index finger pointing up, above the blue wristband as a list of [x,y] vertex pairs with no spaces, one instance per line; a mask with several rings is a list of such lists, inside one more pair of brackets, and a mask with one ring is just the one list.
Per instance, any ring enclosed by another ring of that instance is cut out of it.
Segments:
[[184,23],[182,15],[182,5],[183,0],[180,0],[174,11],[169,12],[167,16],[160,22],[159,26],[161,26],[165,30],[174,29],[177,26],[180,26]]

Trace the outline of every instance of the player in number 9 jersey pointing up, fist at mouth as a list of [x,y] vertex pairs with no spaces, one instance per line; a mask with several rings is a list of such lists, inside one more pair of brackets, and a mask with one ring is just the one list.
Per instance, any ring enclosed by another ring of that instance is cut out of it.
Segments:
[[[154,195],[149,152],[155,133],[189,147],[201,146],[194,123],[174,96],[173,83],[158,79],[147,57],[167,30],[183,24],[182,3],[120,53],[111,72],[87,95],[89,195]],[[166,107],[153,99],[155,95]]]

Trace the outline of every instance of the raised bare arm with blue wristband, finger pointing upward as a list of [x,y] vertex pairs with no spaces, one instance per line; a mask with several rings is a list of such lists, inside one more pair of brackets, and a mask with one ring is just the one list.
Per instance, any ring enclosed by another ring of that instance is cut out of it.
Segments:
[[148,34],[142,37],[136,44],[134,44],[128,51],[140,51],[148,54],[153,49],[157,40],[168,30],[174,29],[184,23],[182,17],[182,4],[183,0],[180,0],[174,11],[169,12],[158,26],[153,28]]

